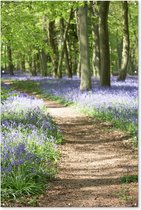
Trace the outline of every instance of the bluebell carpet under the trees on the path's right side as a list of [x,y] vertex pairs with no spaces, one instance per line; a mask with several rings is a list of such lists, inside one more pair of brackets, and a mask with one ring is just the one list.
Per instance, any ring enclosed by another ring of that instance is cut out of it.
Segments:
[[80,108],[93,110],[96,114],[111,116],[120,123],[127,123],[135,128],[138,124],[138,78],[128,77],[125,82],[112,77],[111,87],[100,87],[99,81],[93,79],[92,91],[79,90],[80,80],[42,80],[44,93],[60,96],[67,101],[79,104]]

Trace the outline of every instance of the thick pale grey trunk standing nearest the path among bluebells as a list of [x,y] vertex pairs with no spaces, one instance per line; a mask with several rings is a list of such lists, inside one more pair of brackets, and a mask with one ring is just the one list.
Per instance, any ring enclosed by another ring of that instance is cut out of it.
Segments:
[[87,4],[79,8],[80,21],[80,62],[81,62],[81,82],[80,90],[88,91],[91,87],[91,72],[89,61],[88,44],[88,22],[87,22]]

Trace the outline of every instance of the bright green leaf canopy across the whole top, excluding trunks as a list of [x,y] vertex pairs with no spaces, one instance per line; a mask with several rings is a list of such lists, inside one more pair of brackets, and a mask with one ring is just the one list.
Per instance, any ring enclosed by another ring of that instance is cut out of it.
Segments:
[[[77,67],[75,64],[79,62],[79,34],[77,31],[78,22],[75,12],[83,3],[84,2],[72,1],[60,1],[59,3],[56,1],[2,1],[2,68],[8,68],[9,58],[7,46],[10,42],[15,70],[21,69],[24,71],[22,63],[25,62],[26,70],[31,72],[30,62],[36,59],[35,66],[37,72],[41,73],[41,66],[37,63],[40,63],[39,55],[42,50],[44,50],[45,54],[48,56],[47,71],[48,74],[52,75],[53,68],[51,56],[53,55],[53,52],[48,39],[48,24],[50,21],[55,21],[56,36],[54,39],[59,43],[58,47],[60,50],[62,41],[60,19],[63,17],[65,24],[67,24],[70,9],[73,8],[74,15],[68,30],[67,43],[70,64],[72,65],[72,70],[76,72]],[[138,2],[129,1],[128,5],[130,37],[130,65],[128,67],[128,72],[133,74],[135,70],[137,70],[138,63]],[[91,17],[90,12],[88,12],[88,18],[90,57],[92,57],[92,46],[94,46],[92,21],[98,22],[98,18],[95,20],[95,17]],[[108,25],[111,49],[111,72],[117,72],[119,68],[118,60],[120,59],[118,48],[120,48],[120,45],[122,44],[123,33],[122,2],[110,2]],[[92,58],[90,59],[92,61]],[[64,69],[63,73],[66,74],[65,62],[63,62],[62,69]]]

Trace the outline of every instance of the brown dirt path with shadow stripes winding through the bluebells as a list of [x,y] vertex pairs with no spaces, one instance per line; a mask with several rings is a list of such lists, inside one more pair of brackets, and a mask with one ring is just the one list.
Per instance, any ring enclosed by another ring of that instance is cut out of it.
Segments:
[[74,108],[46,102],[60,125],[65,143],[59,173],[40,196],[41,207],[136,206],[137,183],[121,184],[120,177],[137,174],[137,154],[128,136],[112,125],[77,113]]

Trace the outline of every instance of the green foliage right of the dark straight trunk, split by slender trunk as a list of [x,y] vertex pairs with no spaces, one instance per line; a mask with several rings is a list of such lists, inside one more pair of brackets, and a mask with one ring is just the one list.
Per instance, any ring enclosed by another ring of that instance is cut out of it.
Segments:
[[[129,39],[130,39],[130,60],[128,66],[128,72],[133,74],[137,70],[138,63],[138,2],[128,2],[129,7]],[[110,36],[110,48],[111,48],[111,68],[112,72],[118,72],[119,63],[122,51],[122,2],[112,2],[110,4],[109,11],[109,36]]]

